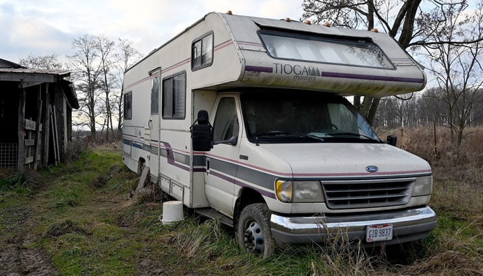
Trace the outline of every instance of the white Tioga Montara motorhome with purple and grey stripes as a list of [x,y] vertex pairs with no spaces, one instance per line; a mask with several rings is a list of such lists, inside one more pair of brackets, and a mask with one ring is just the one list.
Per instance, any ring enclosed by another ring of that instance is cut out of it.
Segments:
[[264,256],[342,233],[422,239],[426,161],[382,141],[343,96],[424,88],[386,34],[212,12],[126,70],[124,164]]

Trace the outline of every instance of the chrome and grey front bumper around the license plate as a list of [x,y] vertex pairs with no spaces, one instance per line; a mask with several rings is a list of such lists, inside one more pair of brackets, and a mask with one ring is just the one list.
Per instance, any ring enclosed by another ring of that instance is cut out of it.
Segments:
[[[400,244],[423,239],[436,227],[436,213],[428,206],[381,213],[285,217],[272,214],[272,235],[277,245],[328,242],[332,239],[361,241],[365,247]],[[366,242],[366,226],[393,224],[393,239]]]

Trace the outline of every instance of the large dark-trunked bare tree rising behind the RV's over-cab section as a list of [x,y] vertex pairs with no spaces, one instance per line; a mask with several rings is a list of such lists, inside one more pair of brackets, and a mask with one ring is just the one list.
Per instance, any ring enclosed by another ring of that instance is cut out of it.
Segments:
[[[382,28],[403,48],[412,50],[438,45],[464,47],[482,39],[477,36],[470,39],[461,36],[440,37],[440,31],[438,31],[440,29],[436,27],[443,26],[450,18],[431,18],[424,10],[449,10],[451,7],[467,6],[468,2],[466,0],[426,0],[424,2],[422,0],[304,0],[302,16],[313,19],[314,23],[328,21],[333,26],[367,30],[374,27]],[[474,2],[481,6],[478,1]],[[373,124],[380,99],[364,97],[362,103],[360,100],[361,97],[354,98],[355,107]]]

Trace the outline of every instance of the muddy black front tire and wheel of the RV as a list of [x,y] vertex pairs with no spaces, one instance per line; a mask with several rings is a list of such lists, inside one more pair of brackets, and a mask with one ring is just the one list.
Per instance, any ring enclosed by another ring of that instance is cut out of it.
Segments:
[[270,210],[266,204],[250,204],[240,213],[237,224],[237,241],[247,252],[273,255],[276,246],[270,228]]

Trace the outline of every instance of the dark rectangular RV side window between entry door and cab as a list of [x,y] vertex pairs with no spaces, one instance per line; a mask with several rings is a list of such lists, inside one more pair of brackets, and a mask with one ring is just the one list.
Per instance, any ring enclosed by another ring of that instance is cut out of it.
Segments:
[[163,119],[184,119],[186,115],[186,72],[163,80]]

